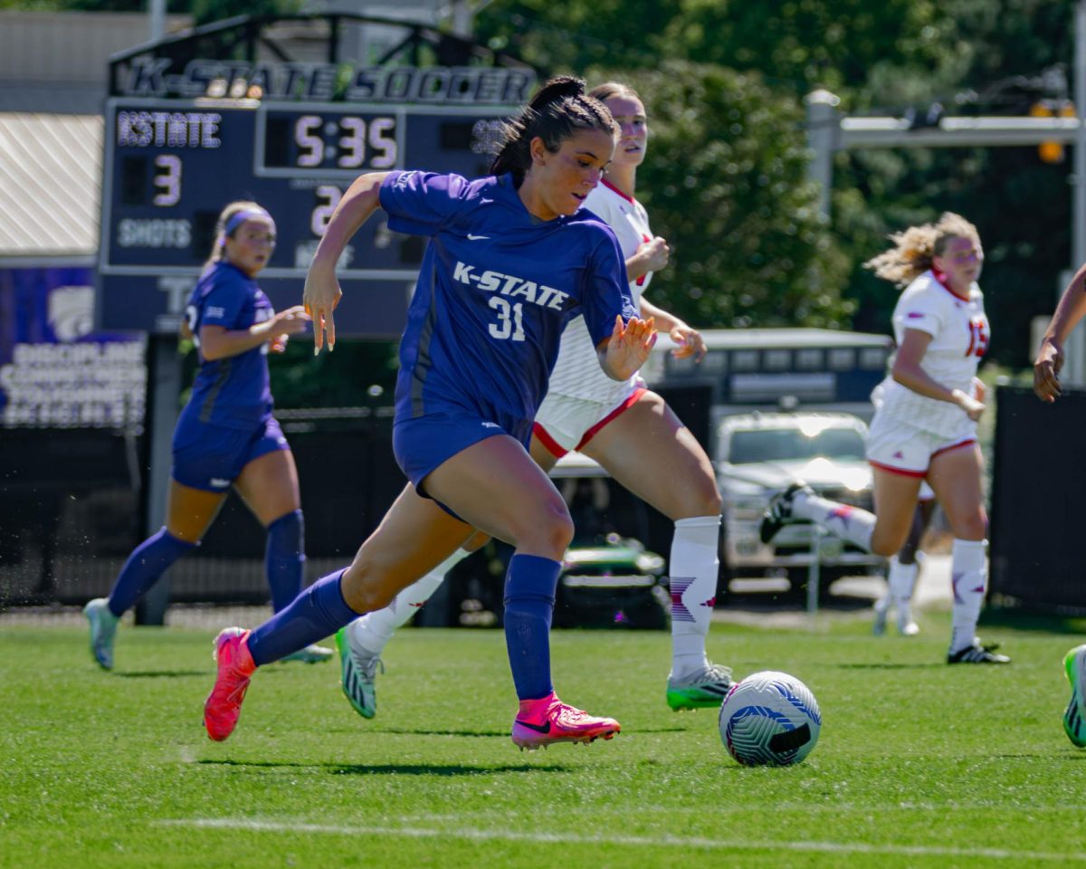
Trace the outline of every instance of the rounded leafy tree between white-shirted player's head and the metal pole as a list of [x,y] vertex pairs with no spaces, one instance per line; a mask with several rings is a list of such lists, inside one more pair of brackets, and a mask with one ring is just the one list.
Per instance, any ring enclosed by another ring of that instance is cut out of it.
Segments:
[[637,197],[674,248],[654,302],[700,327],[847,322],[845,260],[807,180],[801,111],[757,75],[666,62],[599,72],[647,102],[649,150]]

